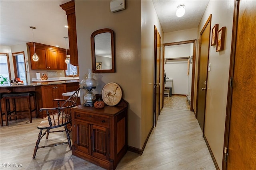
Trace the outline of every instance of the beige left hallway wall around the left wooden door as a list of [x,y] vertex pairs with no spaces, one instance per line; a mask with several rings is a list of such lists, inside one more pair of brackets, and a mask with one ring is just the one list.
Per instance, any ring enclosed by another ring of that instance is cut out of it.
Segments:
[[[142,90],[142,143],[153,126],[153,89],[154,89],[154,25],[161,36],[161,58],[163,47],[163,31],[156,15],[152,1],[141,1],[141,90]],[[162,60],[161,60],[162,63]],[[163,64],[163,63],[162,63]],[[162,77],[161,67],[161,77]],[[161,82],[160,84],[162,84]],[[160,95],[160,104],[162,97]],[[160,106],[161,107],[161,106]]]

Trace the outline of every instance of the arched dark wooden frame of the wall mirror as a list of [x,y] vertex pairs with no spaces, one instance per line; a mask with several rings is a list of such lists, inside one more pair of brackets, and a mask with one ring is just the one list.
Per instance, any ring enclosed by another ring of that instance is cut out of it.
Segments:
[[[95,56],[95,41],[94,37],[100,33],[110,33],[111,36],[111,59],[112,59],[112,69],[109,70],[96,70],[96,56]],[[93,73],[105,73],[105,72],[116,72],[115,67],[115,47],[114,47],[114,31],[109,28],[99,29],[92,33],[91,35],[91,50],[92,50],[92,72]]]

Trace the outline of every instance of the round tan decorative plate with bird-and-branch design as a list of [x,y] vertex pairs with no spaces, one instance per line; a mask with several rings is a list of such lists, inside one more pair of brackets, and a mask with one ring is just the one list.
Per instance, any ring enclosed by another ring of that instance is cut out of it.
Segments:
[[115,106],[122,98],[122,89],[118,84],[111,82],[104,86],[101,95],[105,104]]

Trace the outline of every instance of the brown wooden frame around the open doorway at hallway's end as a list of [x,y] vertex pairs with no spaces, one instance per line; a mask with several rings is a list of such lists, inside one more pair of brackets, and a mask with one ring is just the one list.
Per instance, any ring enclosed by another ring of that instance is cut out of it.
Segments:
[[[192,81],[191,81],[191,101],[190,101],[190,111],[194,111],[194,85],[195,85],[195,66],[196,66],[196,39],[192,39],[192,40],[186,40],[186,41],[178,41],[178,42],[173,42],[173,43],[164,43],[164,49],[166,46],[170,46],[170,45],[182,45],[182,44],[190,44],[193,43],[193,64],[192,64]],[[163,61],[162,63],[164,63],[164,49],[163,49]],[[162,72],[164,72],[164,64],[163,64],[163,70]],[[164,79],[164,75],[162,77],[162,79]],[[161,86],[162,88],[164,88],[164,85]],[[162,102],[163,102],[163,106],[164,106],[164,95],[162,96]]]

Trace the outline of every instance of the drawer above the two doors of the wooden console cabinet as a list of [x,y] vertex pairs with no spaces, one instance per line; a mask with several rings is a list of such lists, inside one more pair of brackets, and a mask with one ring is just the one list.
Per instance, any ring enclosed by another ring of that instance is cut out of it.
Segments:
[[86,113],[78,113],[78,112],[75,112],[74,116],[75,116],[75,119],[89,121],[89,122],[92,122],[92,123],[98,123],[100,125],[109,126],[109,118],[106,118],[106,117],[91,115],[90,113],[86,114]]

